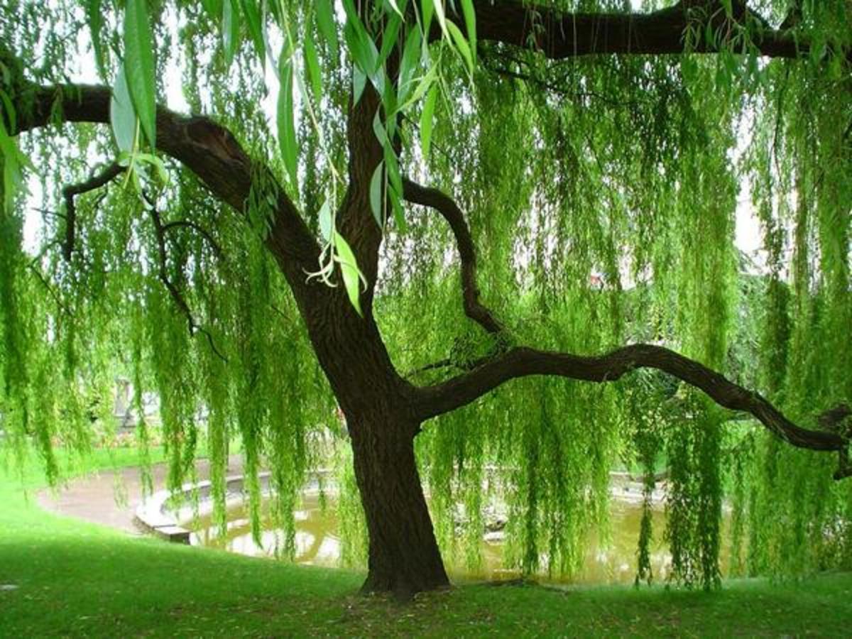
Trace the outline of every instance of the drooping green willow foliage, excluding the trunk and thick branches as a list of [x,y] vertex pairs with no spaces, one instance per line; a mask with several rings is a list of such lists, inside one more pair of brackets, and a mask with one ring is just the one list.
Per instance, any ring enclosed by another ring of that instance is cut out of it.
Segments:
[[[848,3],[804,3],[797,34],[814,43],[808,60],[760,60],[738,28],[688,32],[695,49],[702,41],[727,48],[714,57],[563,61],[515,49],[509,59],[507,48],[477,38],[467,0],[456,3],[463,30],[447,19],[448,3],[372,3],[361,12],[359,3],[337,4],[86,3],[92,66],[115,88],[118,150],[139,167],[162,222],[173,223],[164,257],[152,205],[128,188],[134,182],[118,181],[77,196],[66,259],[60,185],[114,159],[112,137],[83,124],[65,127],[61,141],[55,130],[15,138],[20,114],[3,100],[3,446],[22,458],[32,442],[55,481],[53,445],[84,452],[111,437],[110,389],[116,376],[129,377],[137,414],[143,393],[159,397],[162,423],[137,428],[143,458],[150,442],[164,441],[170,486],[191,476],[206,442],[220,526],[228,442],[242,440],[255,524],[256,473],[272,469],[282,555],[293,547],[305,474],[333,458],[345,556],[363,564],[344,429],[262,245],[275,194],[258,176],[246,223],[176,164],[164,164],[170,179],[158,183],[139,153],[141,135],[154,146],[155,97],[175,94],[171,68],[182,72],[190,110],[214,114],[285,178],[323,245],[317,274],[342,284],[359,313],[356,243],[334,211],[345,197],[350,87],[354,102],[368,87],[377,92],[382,162],[371,167],[369,195],[383,248],[372,306],[394,365],[418,371],[413,383],[445,379],[509,344],[597,354],[655,342],[754,387],[805,425],[816,410],[852,399],[849,60],[838,53],[849,50]],[[575,4],[624,9],[561,6]],[[788,4],[762,8],[780,21]],[[3,67],[10,78],[61,83],[83,71],[68,20],[76,5],[0,11],[0,41],[23,60],[22,69]],[[429,42],[433,23],[441,37]],[[3,89],[13,81],[4,76]],[[264,104],[277,107],[273,117]],[[504,335],[485,336],[463,316],[452,233],[434,212],[402,203],[402,176],[452,193],[464,210],[481,297],[499,309]],[[748,268],[732,243],[746,184],[765,268]],[[39,233],[25,238],[33,220]],[[570,574],[586,534],[607,534],[609,471],[642,467],[648,515],[665,458],[667,527],[655,531],[643,518],[640,579],[652,579],[648,554],[665,538],[672,571],[653,579],[717,585],[728,506],[732,572],[849,567],[852,488],[829,479],[834,460],[731,417],[660,376],[600,387],[510,383],[417,437],[440,544],[475,565],[483,510],[500,507],[510,515],[513,567]]]

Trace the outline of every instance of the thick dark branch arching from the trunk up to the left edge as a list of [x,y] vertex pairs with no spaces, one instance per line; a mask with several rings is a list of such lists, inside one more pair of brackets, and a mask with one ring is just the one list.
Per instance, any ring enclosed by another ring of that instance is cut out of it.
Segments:
[[[14,133],[62,122],[109,123],[108,87],[30,84],[12,99],[18,123]],[[253,163],[230,131],[209,118],[187,118],[158,107],[157,147],[187,166],[216,198],[240,213],[245,212],[253,187],[262,193],[257,201],[273,209],[267,245],[291,286],[306,285],[304,272],[316,268],[320,248],[268,168]],[[268,203],[268,194],[274,204]]]

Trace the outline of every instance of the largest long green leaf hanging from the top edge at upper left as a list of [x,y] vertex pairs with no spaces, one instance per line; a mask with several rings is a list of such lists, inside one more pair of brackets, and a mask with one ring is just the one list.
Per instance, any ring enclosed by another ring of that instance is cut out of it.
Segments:
[[142,132],[157,146],[157,91],[154,55],[146,0],[127,0],[124,7],[124,72]]

